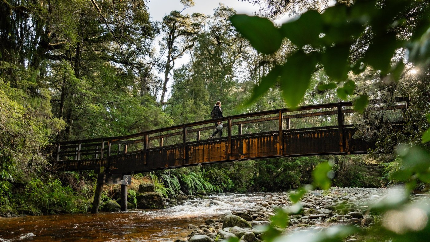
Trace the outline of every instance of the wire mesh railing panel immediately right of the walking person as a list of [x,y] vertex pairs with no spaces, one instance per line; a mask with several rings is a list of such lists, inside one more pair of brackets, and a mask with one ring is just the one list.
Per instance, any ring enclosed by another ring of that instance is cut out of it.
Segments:
[[279,130],[278,119],[279,115],[277,113],[233,119],[231,135],[250,135]]

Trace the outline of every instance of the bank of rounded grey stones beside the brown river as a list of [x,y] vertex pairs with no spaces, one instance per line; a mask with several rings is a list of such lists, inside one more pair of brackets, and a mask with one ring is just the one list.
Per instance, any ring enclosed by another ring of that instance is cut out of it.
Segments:
[[[283,233],[297,230],[324,230],[334,224],[355,224],[367,227],[374,224],[368,205],[388,193],[385,188],[337,188],[311,190],[301,199],[302,210],[289,217],[289,227]],[[213,201],[216,203],[216,200]],[[261,241],[264,226],[278,209],[292,209],[288,193],[273,193],[255,206],[243,211],[227,211],[218,219],[206,219],[202,224],[190,224],[193,231],[188,239],[175,242],[214,242],[215,239],[238,238],[241,242]],[[350,241],[356,241],[350,239]]]

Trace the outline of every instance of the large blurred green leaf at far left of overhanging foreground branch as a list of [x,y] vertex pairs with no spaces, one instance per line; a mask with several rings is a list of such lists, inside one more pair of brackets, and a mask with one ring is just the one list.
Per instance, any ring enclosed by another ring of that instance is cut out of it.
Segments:
[[282,44],[278,28],[267,18],[237,14],[230,17],[231,24],[249,40],[252,47],[264,54],[273,54]]

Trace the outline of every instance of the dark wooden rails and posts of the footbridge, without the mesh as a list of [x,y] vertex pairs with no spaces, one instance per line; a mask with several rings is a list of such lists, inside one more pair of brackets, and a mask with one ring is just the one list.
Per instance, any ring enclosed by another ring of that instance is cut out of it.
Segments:
[[[407,103],[406,98],[403,98],[403,97],[394,98],[393,104],[397,103],[397,102],[403,102],[403,101],[406,101],[406,103]],[[370,104],[378,104],[381,102],[380,102],[380,100],[371,100],[369,103]],[[162,140],[165,137],[174,136],[174,135],[181,135],[181,134],[184,134],[183,136],[186,137],[187,134],[193,133],[193,132],[199,132],[198,135],[200,137],[200,131],[204,131],[204,130],[208,130],[208,129],[214,129],[214,127],[213,126],[207,126],[207,127],[188,129],[188,130],[187,130],[187,128],[195,127],[195,126],[201,126],[201,125],[210,124],[210,123],[219,122],[219,121],[221,121],[221,122],[227,121],[228,139],[230,140],[231,136],[232,136],[231,135],[231,127],[232,126],[235,126],[235,125],[240,126],[242,124],[247,124],[247,123],[258,123],[258,122],[263,122],[263,121],[276,120],[276,119],[278,119],[278,117],[277,116],[276,117],[275,116],[263,117],[263,118],[259,118],[259,119],[250,119],[250,120],[243,120],[243,121],[237,121],[237,122],[231,122],[232,120],[243,119],[243,118],[252,118],[252,117],[256,117],[256,116],[273,115],[273,114],[279,114],[279,133],[281,136],[282,130],[283,130],[283,128],[282,128],[283,124],[281,124],[281,122],[283,122],[283,119],[294,119],[294,118],[303,118],[303,117],[311,117],[311,116],[324,116],[324,115],[338,114],[338,115],[342,116],[341,119],[343,120],[344,113],[353,113],[356,111],[353,109],[342,109],[342,107],[350,107],[352,105],[353,105],[353,103],[349,101],[349,102],[337,102],[337,103],[329,103],[329,104],[307,105],[307,106],[297,107],[294,109],[293,108],[282,108],[282,109],[276,109],[276,110],[260,111],[260,112],[255,112],[255,113],[244,113],[244,114],[226,116],[226,117],[217,118],[217,119],[202,120],[202,121],[187,123],[187,124],[183,124],[183,125],[154,129],[154,130],[149,130],[146,132],[140,132],[140,133],[136,133],[136,134],[132,134],[132,135],[126,135],[126,136],[93,138],[93,139],[84,139],[84,140],[75,140],[75,141],[62,141],[62,142],[54,143],[53,147],[57,147],[56,152],[54,152],[55,155],[57,156],[56,160],[60,160],[61,154],[66,154],[66,156],[74,156],[75,160],[80,160],[81,155],[95,155],[95,159],[106,158],[106,157],[104,157],[104,152],[108,152],[107,153],[108,155],[110,154],[112,142],[115,142],[116,144],[121,145],[117,141],[132,139],[132,138],[136,138],[136,137],[144,137],[142,139],[128,141],[127,144],[144,143],[143,149],[146,150],[148,148],[148,146],[147,146],[148,141],[153,141],[153,140],[157,140],[157,139]],[[386,107],[387,106],[375,107],[375,109],[376,110],[383,110]],[[407,104],[394,105],[393,107],[394,107],[394,109],[405,109],[405,108],[407,108]],[[291,112],[304,111],[304,110],[328,109],[328,108],[337,108],[337,110],[284,115],[284,113],[291,113]],[[340,118],[340,116],[339,116],[339,118]],[[342,124],[339,123],[339,129],[341,129],[343,126],[344,126],[343,123]],[[182,129],[182,131],[178,131],[175,133],[169,133],[169,134],[163,134],[163,135],[157,135],[157,136],[152,136],[152,137],[148,136],[151,134],[172,131],[175,129]],[[197,139],[199,140],[200,138],[197,138]],[[147,141],[145,142],[145,140],[147,140]],[[163,141],[160,141],[160,146],[163,146],[162,143],[163,143]],[[187,143],[186,138],[184,138],[184,140],[178,144],[179,145],[183,144],[185,146],[186,143]],[[85,149],[82,149],[82,147],[93,147],[93,148],[85,150]],[[63,150],[61,150],[61,149],[63,149]],[[75,149],[75,150],[67,150],[67,149]],[[120,147],[118,147],[118,152],[120,152]],[[100,156],[100,157],[98,157],[98,156]]]

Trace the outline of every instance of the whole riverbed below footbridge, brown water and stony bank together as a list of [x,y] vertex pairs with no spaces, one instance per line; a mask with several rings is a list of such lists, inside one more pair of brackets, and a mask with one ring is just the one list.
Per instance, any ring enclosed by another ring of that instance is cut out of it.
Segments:
[[[384,188],[310,191],[302,201],[304,211],[291,217],[287,232],[323,230],[333,224],[372,225],[373,214],[366,213],[367,207],[363,204],[381,199],[387,193],[388,189]],[[181,203],[183,205],[166,209],[0,218],[0,242],[29,239],[186,241],[196,235],[209,239],[232,235],[241,238],[247,232],[251,232],[258,241],[262,237],[258,225],[267,224],[277,208],[289,208],[292,205],[288,193],[220,193]],[[248,220],[246,223],[250,226],[233,228],[227,225],[226,215],[244,217],[243,220]],[[251,239],[245,241],[252,241],[254,237],[250,233],[247,235]]]

